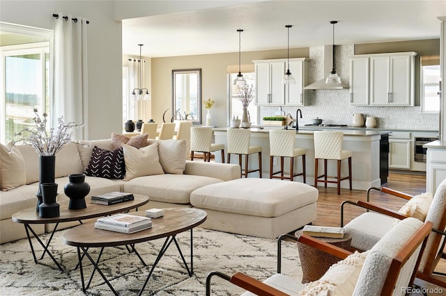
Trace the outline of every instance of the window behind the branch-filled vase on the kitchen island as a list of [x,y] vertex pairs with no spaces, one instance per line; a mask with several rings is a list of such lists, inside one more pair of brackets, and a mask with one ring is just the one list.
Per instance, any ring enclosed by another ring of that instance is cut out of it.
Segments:
[[[243,106],[240,100],[238,99],[238,86],[233,85],[233,80],[236,79],[238,73],[228,74],[228,85],[229,85],[229,120],[232,119],[233,116],[237,117],[241,120],[243,114]],[[256,88],[256,75],[254,72],[243,73],[243,78],[246,83],[249,85],[253,85]],[[259,124],[259,107],[255,105],[255,92],[254,98],[248,106],[249,119],[252,124]],[[228,124],[229,125],[229,124]]]

